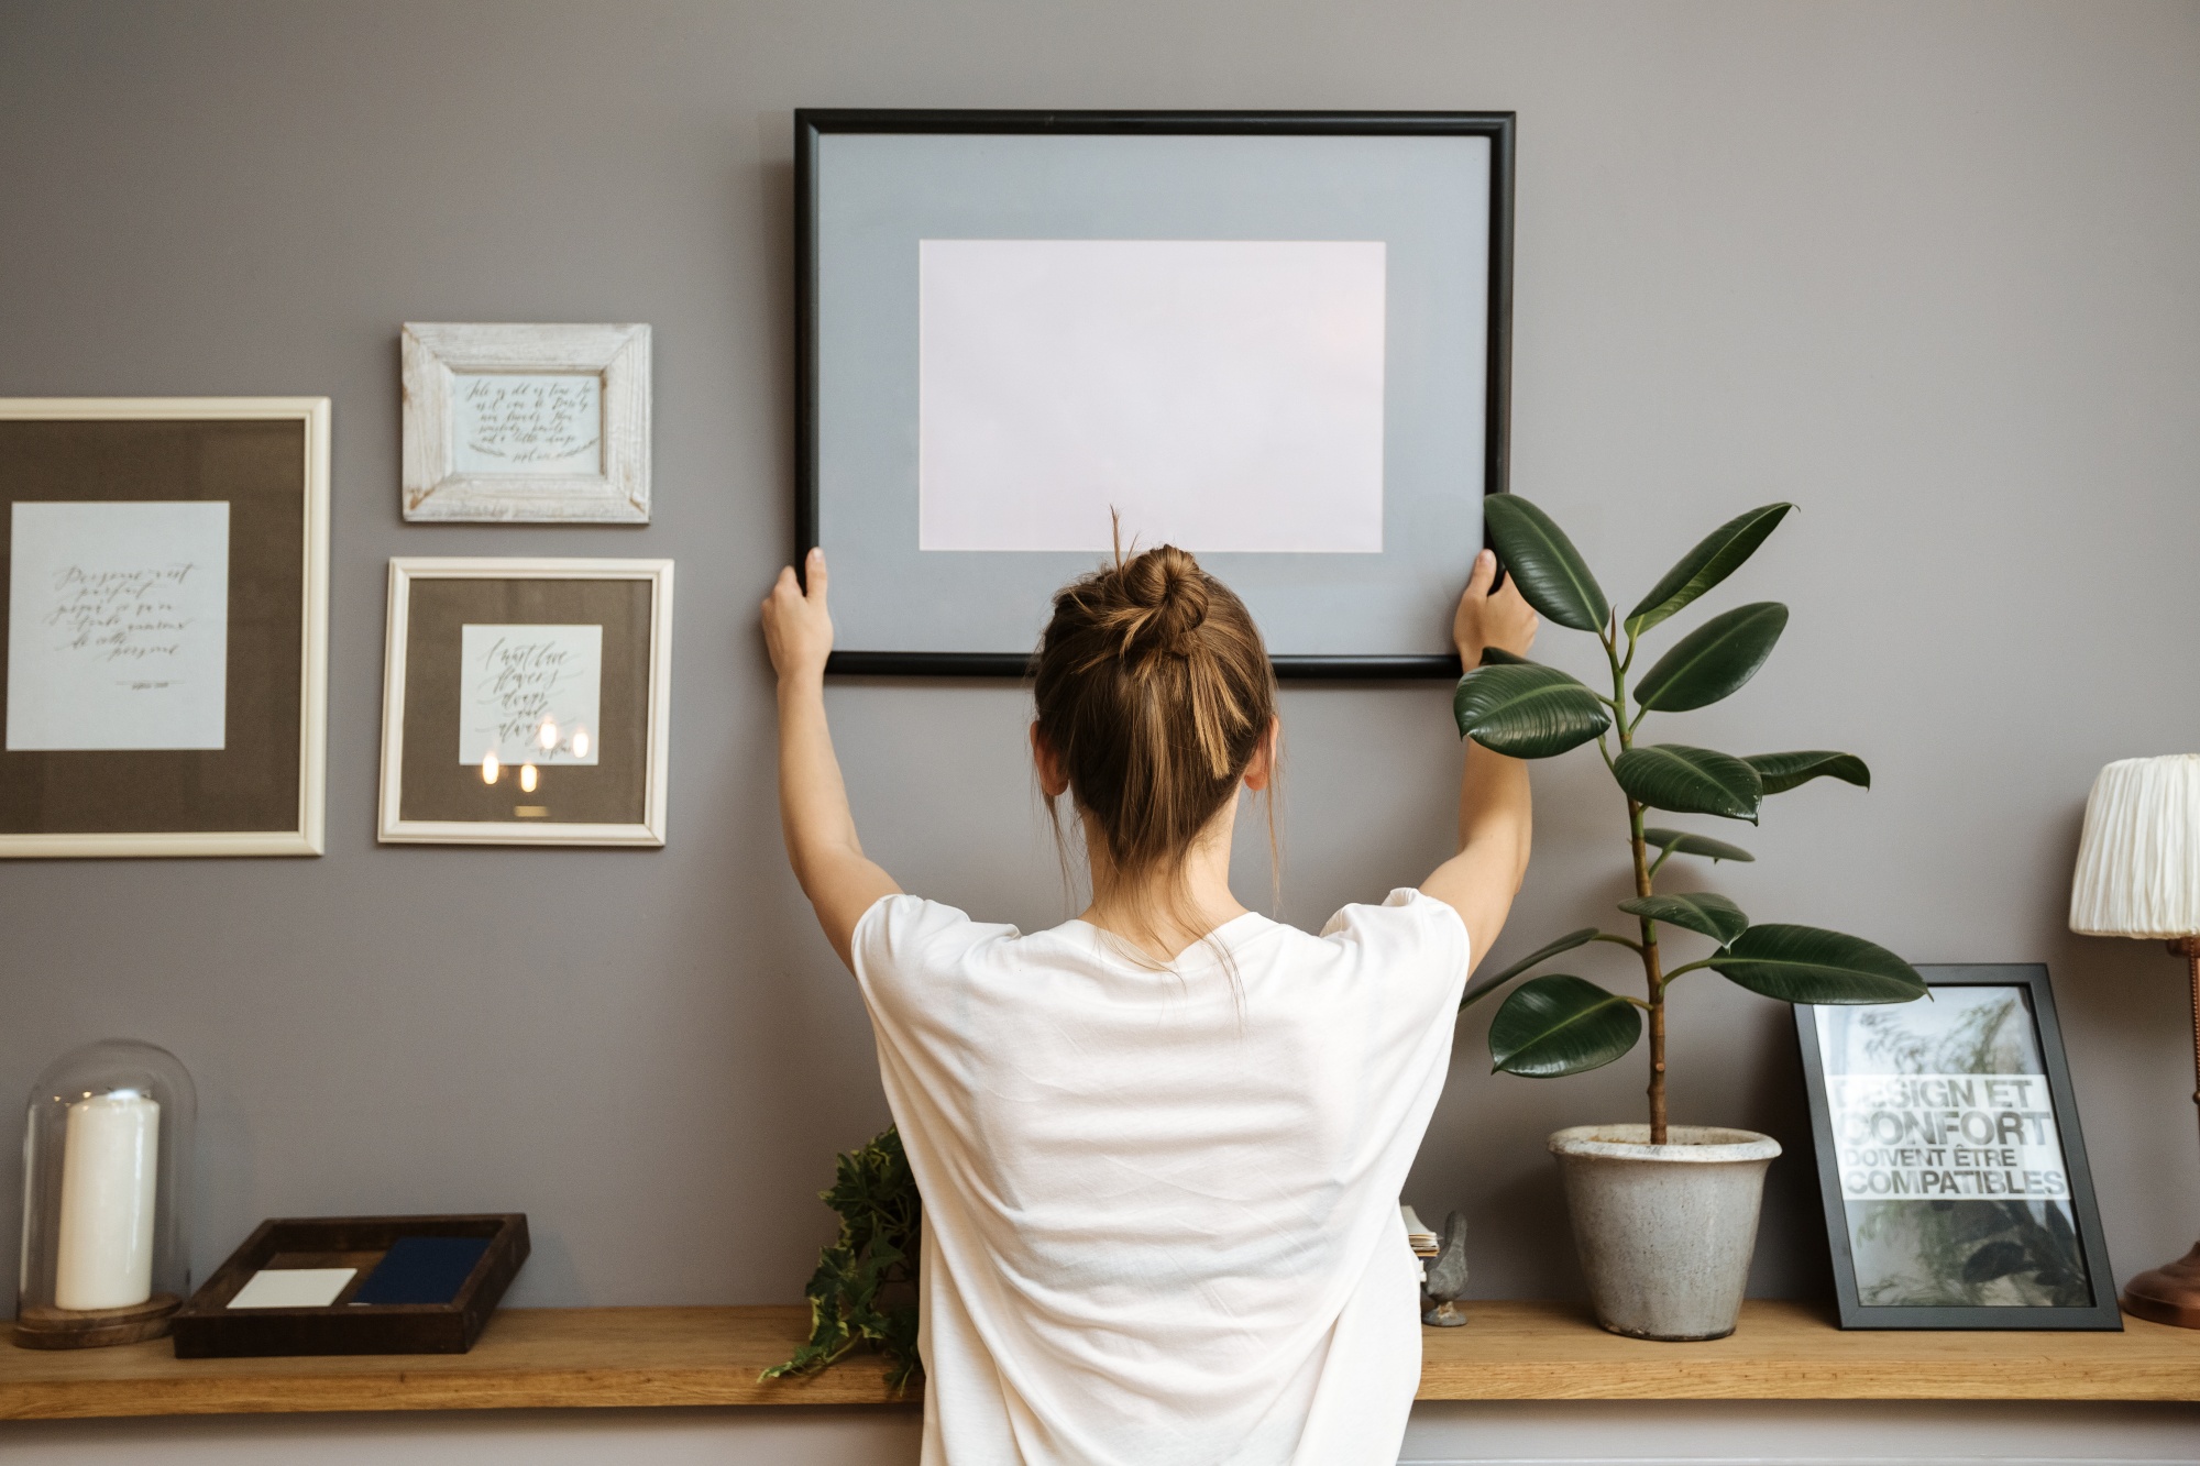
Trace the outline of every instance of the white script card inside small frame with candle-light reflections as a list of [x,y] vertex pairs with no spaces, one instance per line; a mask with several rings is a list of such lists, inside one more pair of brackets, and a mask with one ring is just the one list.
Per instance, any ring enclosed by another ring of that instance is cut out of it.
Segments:
[[460,764],[596,762],[601,625],[466,625],[460,658]]

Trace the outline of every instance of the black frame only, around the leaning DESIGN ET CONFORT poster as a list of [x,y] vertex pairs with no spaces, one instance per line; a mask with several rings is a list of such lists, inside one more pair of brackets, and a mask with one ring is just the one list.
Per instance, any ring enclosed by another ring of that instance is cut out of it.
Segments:
[[[1859,1297],[1857,1257],[1850,1237],[1848,1197],[1841,1186],[1841,1156],[1828,1098],[1826,1063],[1819,1052],[1819,1024],[1833,1010],[1795,1004],[1795,1046],[1802,1054],[1804,1090],[1811,1103],[1811,1138],[1817,1153],[1819,1197],[1826,1211],[1826,1244],[1833,1252],[1835,1303],[1844,1330],[2101,1330],[2123,1327],[2116,1305],[2116,1277],[2108,1261],[2108,1239],[2101,1233],[2101,1208],[2092,1191],[2092,1169],[2086,1162],[2086,1136],[2079,1127],[2077,1096],[2070,1090],[2070,1063],[2064,1057],[2061,1026],[2055,1019],[2055,993],[2048,969],[2022,964],[1940,964],[1916,969],[1927,991],[2022,988],[2031,1010],[2033,1037],[2039,1050],[2055,1131],[2068,1169],[2070,1222],[2075,1246],[2083,1259],[2083,1305],[1874,1305]],[[1918,1008],[1929,999],[1921,999]],[[1905,1004],[1907,1008],[1910,1004]],[[1923,1202],[1916,1202],[1923,1204]],[[1954,1202],[1967,1206],[1971,1202]],[[2000,1244],[1982,1244],[2000,1246]],[[1980,1250],[1982,1250],[1980,1248]]]

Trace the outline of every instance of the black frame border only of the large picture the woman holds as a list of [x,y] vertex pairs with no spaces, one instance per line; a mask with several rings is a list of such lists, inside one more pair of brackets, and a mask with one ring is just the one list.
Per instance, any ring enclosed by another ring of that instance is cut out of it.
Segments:
[[[1034,112],[1034,110],[876,110],[803,108],[794,112],[794,269],[796,269],[796,497],[794,564],[821,539],[818,412],[818,143],[847,132],[933,134],[1296,134],[1296,136],[1485,136],[1489,139],[1489,240],[1483,363],[1483,493],[1505,493],[1511,416],[1511,236],[1514,112]],[[827,546],[829,550],[832,546]],[[1465,566],[1461,566],[1461,572]],[[843,645],[827,671],[856,676],[1025,676],[1025,652],[906,652]],[[1274,658],[1283,678],[1399,680],[1456,678],[1454,654]]]

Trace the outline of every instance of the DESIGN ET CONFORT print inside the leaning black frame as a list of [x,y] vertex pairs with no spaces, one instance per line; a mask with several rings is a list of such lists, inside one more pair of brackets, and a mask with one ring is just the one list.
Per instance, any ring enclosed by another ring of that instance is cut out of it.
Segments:
[[1819,1008],[1817,1037],[1863,1305],[2092,1301],[2024,988]]

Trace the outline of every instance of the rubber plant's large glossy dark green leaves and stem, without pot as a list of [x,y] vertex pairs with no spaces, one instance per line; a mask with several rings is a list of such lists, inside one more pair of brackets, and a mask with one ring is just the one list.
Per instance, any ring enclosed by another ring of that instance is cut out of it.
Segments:
[[[1459,733],[1522,759],[1597,746],[1628,810],[1635,894],[1619,902],[1619,911],[1635,918],[1635,933],[1569,931],[1470,986],[1459,1006],[1481,1002],[1577,947],[1613,942],[1630,949],[1641,960],[1643,997],[1610,993],[1569,973],[1533,977],[1514,988],[1489,1021],[1489,1059],[1494,1070],[1507,1074],[1582,1074],[1632,1052],[1648,1026],[1652,1145],[1665,1142],[1665,993],[1674,980],[1712,971],[1789,1004],[1896,1004],[1925,995],[1925,980],[1907,962],[1863,938],[1819,927],[1758,925],[1709,891],[1657,891],[1659,872],[1674,856],[1714,865],[1756,856],[1709,834],[1650,825],[1652,810],[1756,823],[1767,797],[1811,779],[1872,784],[1870,768],[1852,753],[1811,748],[1738,757],[1641,737],[1650,713],[1687,713],[1720,702],[1773,654],[1789,610],[1778,601],[1756,601],[1709,616],[1635,676],[1641,638],[1734,575],[1791,508],[1764,504],[1720,524],[1635,610],[1619,614],[1551,515],[1511,493],[1483,500],[1489,539],[1520,594],[1544,621],[1597,638],[1613,691],[1604,696],[1555,667],[1492,649],[1459,680],[1452,698]],[[1668,969],[1661,929],[1707,940],[1712,951]]]

